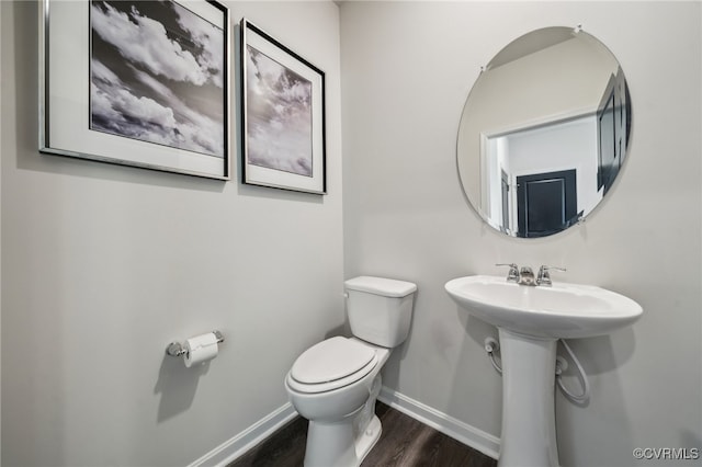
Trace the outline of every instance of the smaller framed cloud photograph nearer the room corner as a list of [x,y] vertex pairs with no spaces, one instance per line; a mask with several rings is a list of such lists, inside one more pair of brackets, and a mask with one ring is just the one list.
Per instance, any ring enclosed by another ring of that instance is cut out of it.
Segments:
[[325,73],[241,20],[247,184],[326,194]]

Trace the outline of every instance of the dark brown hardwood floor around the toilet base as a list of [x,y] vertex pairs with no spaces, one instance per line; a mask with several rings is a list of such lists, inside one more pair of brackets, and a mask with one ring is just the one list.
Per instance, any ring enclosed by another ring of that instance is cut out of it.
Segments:
[[[383,433],[361,467],[495,467],[497,460],[383,402],[376,413]],[[227,467],[299,467],[307,420],[297,418]]]

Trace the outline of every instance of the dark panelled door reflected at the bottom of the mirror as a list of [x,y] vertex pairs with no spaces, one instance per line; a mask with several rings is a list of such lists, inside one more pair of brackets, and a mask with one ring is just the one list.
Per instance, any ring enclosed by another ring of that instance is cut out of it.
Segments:
[[518,236],[545,237],[577,219],[576,170],[517,178]]

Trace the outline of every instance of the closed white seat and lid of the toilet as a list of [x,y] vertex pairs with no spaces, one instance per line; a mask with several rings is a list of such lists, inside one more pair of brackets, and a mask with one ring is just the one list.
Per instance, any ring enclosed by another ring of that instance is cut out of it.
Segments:
[[353,384],[377,365],[376,352],[363,343],[336,337],[306,350],[287,375],[291,389],[325,392]]

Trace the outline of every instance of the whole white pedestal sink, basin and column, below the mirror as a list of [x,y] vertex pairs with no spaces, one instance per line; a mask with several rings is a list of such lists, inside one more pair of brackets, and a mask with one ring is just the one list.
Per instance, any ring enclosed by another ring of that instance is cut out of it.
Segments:
[[602,335],[636,321],[634,300],[604,288],[525,286],[475,275],[449,281],[461,307],[498,328],[502,356],[499,467],[557,467],[554,374],[558,339]]

